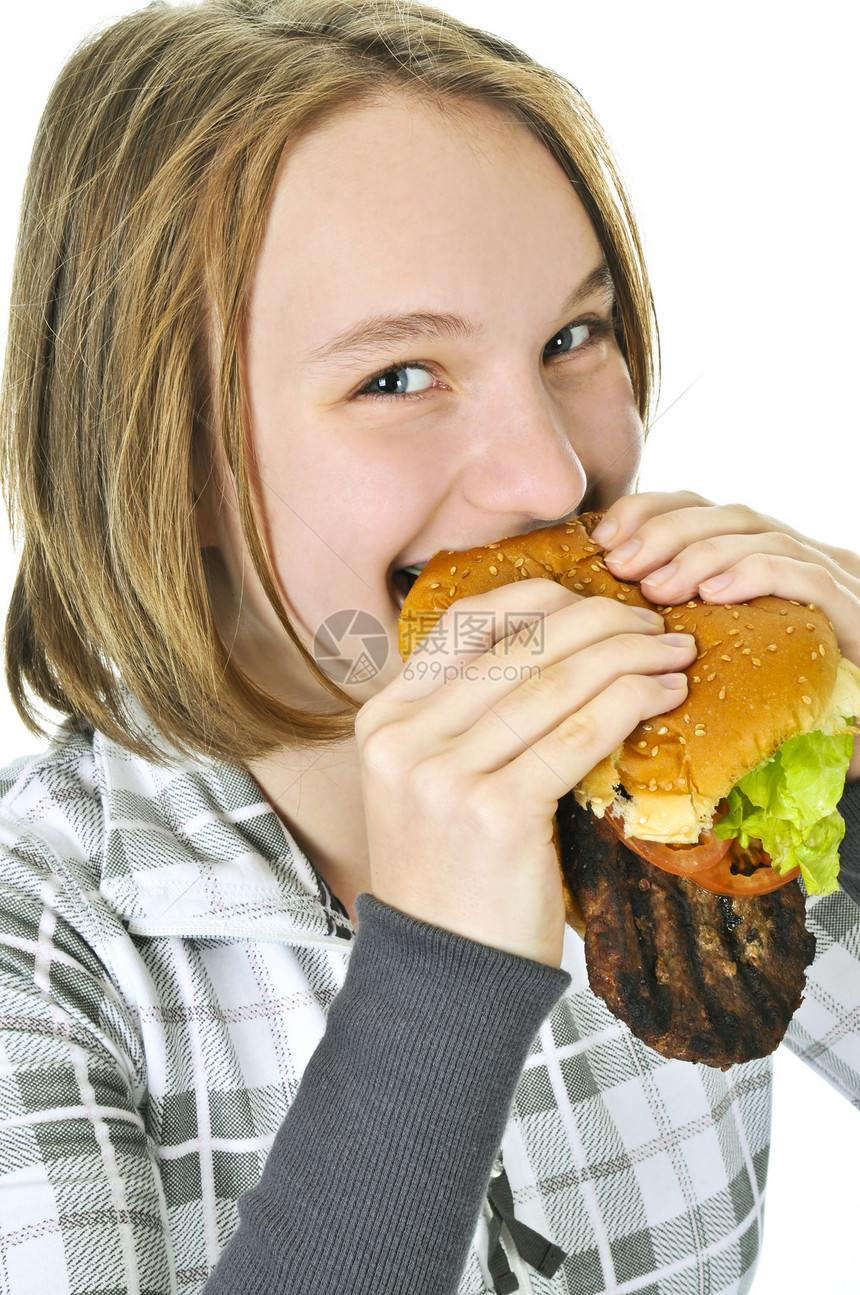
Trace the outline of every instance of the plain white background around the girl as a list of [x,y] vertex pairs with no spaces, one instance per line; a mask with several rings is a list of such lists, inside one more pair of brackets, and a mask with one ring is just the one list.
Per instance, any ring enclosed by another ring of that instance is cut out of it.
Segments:
[[[6,8],[4,303],[18,196],[52,79],[88,30],[133,8],[122,0]],[[446,8],[562,71],[620,158],[663,342],[666,412],[642,488],[743,500],[859,548],[855,6],[451,0]],[[0,531],[5,605],[12,550]],[[0,763],[34,746],[5,704]],[[781,1050],[776,1064],[755,1295],[856,1290],[860,1119],[790,1054]]]

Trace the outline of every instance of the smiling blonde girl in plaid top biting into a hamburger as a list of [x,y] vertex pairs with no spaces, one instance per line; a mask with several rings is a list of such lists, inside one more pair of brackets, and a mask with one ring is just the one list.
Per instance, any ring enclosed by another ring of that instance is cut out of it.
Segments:
[[[150,6],[51,97],[13,300],[8,672],[67,720],[3,782],[6,1287],[747,1290],[769,1063],[629,1037],[552,847],[692,642],[532,580],[443,671],[395,646],[403,569],[605,508],[655,600],[815,601],[860,660],[855,556],[632,493],[653,312],[587,105],[418,5]],[[856,1093],[857,910],[809,923],[793,1030]]]

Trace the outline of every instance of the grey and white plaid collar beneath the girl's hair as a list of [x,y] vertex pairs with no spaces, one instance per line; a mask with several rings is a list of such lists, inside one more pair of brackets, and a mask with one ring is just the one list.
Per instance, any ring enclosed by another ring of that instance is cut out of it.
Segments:
[[105,837],[100,890],[139,935],[342,945],[348,917],[250,773],[93,734]]

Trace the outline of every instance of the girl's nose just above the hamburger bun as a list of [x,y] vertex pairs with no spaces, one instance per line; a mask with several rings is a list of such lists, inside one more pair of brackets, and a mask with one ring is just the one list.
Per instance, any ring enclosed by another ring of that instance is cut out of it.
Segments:
[[[477,418],[475,418],[477,413]],[[570,439],[569,417],[539,385],[509,383],[473,409],[461,488],[482,513],[556,521],[575,512],[587,474]]]

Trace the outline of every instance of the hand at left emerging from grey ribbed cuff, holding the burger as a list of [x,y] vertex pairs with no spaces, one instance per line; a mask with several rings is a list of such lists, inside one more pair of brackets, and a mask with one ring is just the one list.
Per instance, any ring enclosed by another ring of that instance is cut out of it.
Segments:
[[[469,614],[464,650],[456,618]],[[683,702],[677,672],[694,657],[692,637],[663,635],[657,614],[552,580],[448,607],[356,717],[373,894],[557,966],[558,798],[640,720]]]

